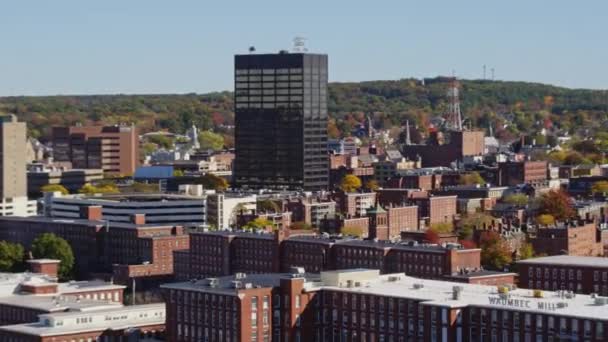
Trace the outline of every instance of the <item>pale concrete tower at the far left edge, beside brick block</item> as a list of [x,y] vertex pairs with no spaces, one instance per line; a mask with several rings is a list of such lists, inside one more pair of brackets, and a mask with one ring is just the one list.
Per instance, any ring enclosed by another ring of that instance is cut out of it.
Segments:
[[15,115],[0,116],[0,216],[36,214],[27,198],[26,126]]

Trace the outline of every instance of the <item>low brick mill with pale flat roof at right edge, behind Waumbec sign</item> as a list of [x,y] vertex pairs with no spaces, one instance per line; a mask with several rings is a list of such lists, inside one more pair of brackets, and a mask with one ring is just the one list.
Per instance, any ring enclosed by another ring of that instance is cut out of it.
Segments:
[[517,264],[521,287],[608,296],[608,258],[556,255]]

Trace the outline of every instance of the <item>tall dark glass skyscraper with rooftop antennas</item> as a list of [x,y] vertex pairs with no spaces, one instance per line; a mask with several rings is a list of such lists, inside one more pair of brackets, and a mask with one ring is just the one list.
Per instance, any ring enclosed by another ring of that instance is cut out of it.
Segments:
[[235,185],[326,189],[327,55],[237,55]]

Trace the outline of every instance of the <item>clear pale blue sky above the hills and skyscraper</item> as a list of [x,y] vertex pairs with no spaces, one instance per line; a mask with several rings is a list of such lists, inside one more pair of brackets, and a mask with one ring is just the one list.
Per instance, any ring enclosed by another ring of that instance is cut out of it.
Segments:
[[449,75],[608,88],[608,1],[0,0],[0,96],[232,89],[294,36],[331,81]]

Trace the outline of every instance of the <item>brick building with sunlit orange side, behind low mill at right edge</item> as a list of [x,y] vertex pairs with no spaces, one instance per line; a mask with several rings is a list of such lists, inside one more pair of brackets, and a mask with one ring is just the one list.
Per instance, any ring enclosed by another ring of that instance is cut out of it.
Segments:
[[530,234],[530,242],[538,254],[604,255],[605,241],[593,220],[572,220],[550,227],[536,227]]

